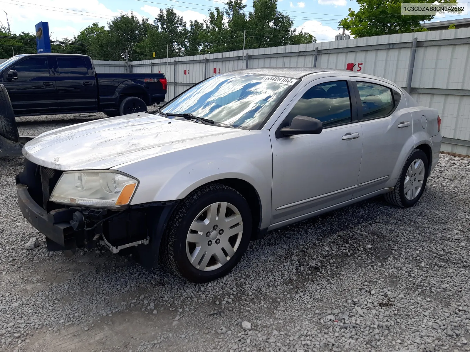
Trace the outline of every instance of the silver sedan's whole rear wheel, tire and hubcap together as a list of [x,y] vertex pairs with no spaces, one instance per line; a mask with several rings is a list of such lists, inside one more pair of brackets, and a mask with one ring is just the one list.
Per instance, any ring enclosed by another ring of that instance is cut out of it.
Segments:
[[412,207],[421,198],[428,180],[428,158],[420,149],[414,149],[395,184],[395,189],[384,195],[385,200],[397,207]]

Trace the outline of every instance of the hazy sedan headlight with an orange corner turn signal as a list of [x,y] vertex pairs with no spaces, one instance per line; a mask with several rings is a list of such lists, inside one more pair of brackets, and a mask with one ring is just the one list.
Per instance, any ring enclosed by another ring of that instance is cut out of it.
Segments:
[[129,204],[138,181],[116,172],[67,172],[59,178],[50,201],[89,207]]

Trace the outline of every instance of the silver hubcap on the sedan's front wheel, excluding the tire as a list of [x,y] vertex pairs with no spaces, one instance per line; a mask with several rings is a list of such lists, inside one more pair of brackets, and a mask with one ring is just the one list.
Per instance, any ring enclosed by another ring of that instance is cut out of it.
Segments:
[[210,271],[235,255],[243,235],[242,215],[230,203],[205,207],[189,227],[186,254],[193,267]]

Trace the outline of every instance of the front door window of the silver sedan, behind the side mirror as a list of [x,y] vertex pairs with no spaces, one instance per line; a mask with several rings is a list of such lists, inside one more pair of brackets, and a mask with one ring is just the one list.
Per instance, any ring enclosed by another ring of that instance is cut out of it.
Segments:
[[304,93],[288,115],[289,122],[297,115],[318,119],[323,127],[352,121],[351,99],[346,81],[314,85]]

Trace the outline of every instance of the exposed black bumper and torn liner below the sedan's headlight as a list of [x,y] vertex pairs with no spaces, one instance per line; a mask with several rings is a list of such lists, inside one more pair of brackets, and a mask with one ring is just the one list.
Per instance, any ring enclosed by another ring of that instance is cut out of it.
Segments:
[[113,253],[132,247],[146,268],[158,263],[161,238],[178,203],[140,204],[121,211],[63,207],[47,212],[33,199],[27,185],[17,183],[16,190],[21,212],[46,236],[49,251],[74,253],[77,248],[92,249],[100,241]]

